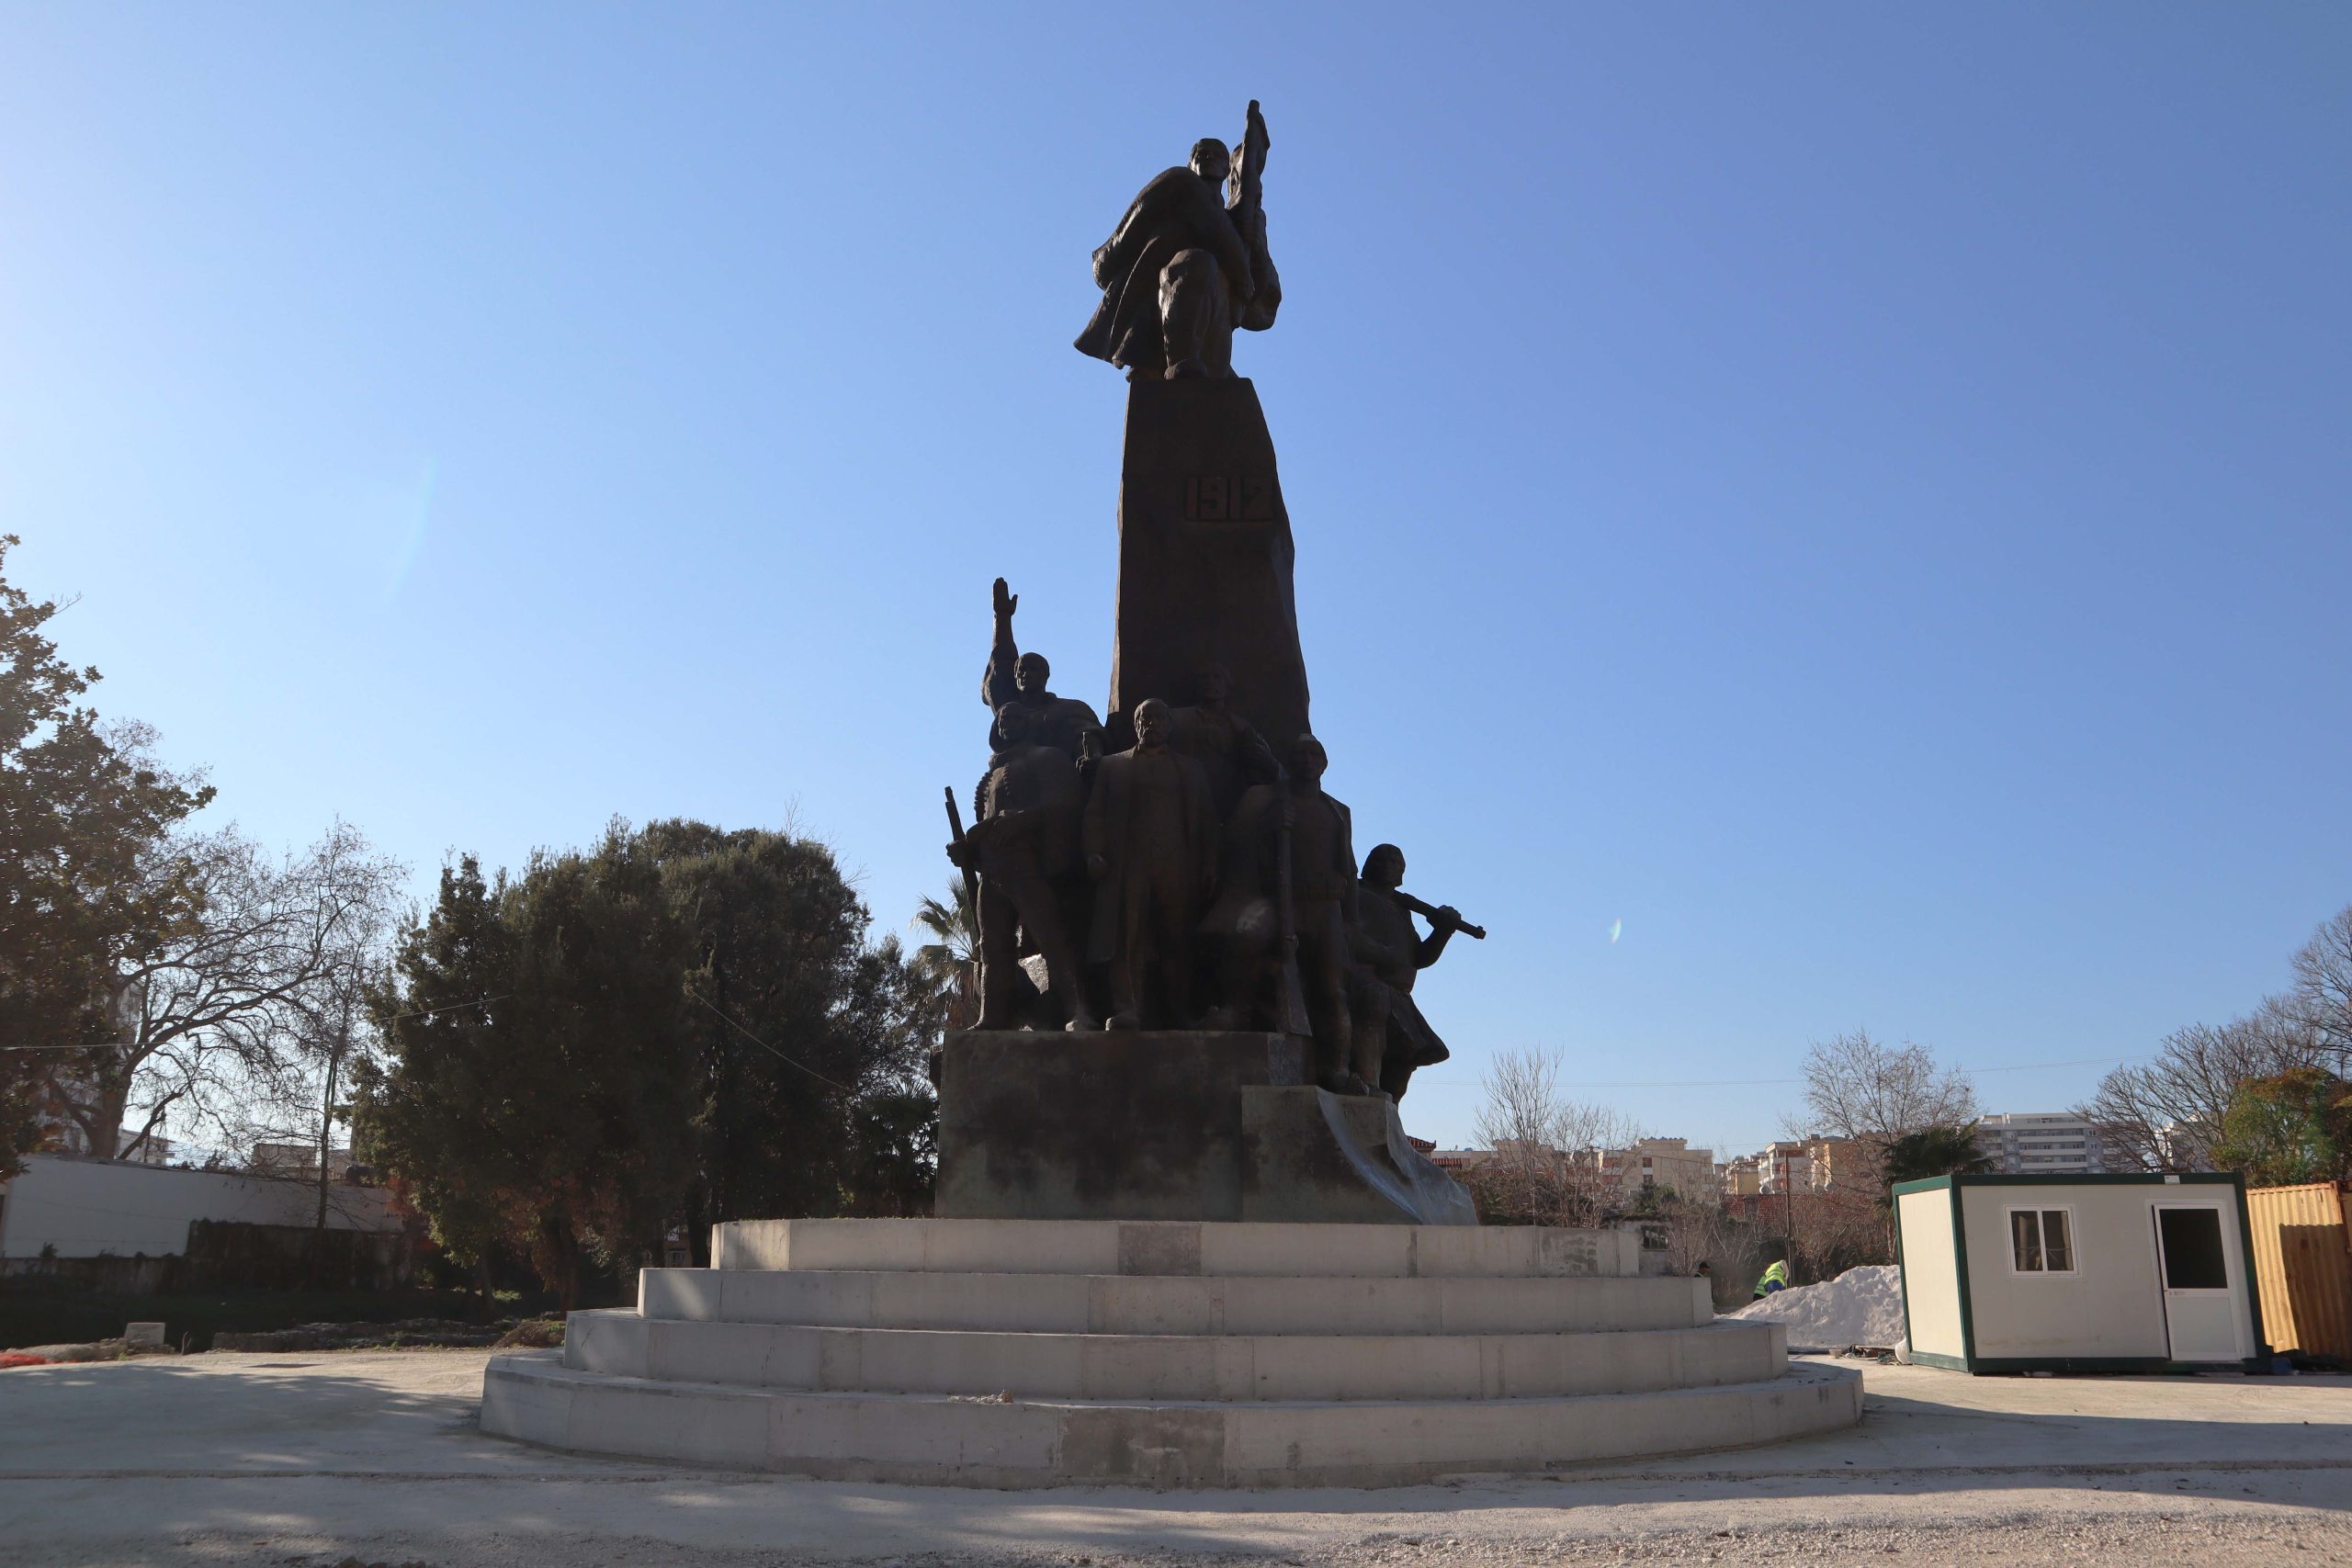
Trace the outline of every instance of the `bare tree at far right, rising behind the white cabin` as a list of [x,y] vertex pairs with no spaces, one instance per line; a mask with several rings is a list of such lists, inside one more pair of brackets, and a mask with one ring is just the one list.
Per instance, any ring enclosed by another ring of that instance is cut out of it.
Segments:
[[[2296,964],[2303,966],[2303,954]],[[2157,1060],[2117,1067],[2074,1114],[2098,1121],[2105,1145],[2147,1171],[2209,1171],[2220,1117],[2239,1084],[2324,1067],[2331,1053],[2300,992],[2272,997],[2220,1027],[2173,1030]]]

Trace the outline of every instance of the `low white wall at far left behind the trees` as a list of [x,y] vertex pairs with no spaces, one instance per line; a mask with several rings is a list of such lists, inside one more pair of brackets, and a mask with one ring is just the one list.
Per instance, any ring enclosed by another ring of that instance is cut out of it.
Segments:
[[[191,1220],[315,1225],[318,1185],[216,1171],[174,1171],[113,1159],[33,1154],[0,1182],[0,1258],[179,1255]],[[400,1229],[383,1187],[327,1187],[329,1229]]]

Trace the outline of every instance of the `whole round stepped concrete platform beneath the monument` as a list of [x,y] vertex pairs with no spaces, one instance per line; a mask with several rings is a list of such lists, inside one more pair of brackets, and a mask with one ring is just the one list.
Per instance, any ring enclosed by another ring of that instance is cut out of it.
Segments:
[[1860,1420],[1635,1232],[1117,1220],[722,1225],[482,1429],[837,1481],[1406,1486],[1773,1443]]

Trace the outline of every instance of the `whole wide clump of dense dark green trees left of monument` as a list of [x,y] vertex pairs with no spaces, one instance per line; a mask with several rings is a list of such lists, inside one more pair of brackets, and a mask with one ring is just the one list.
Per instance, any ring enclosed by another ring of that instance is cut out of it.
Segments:
[[367,1152],[454,1258],[524,1253],[567,1302],[680,1225],[920,1208],[915,992],[866,929],[790,835],[614,825],[513,882],[461,860],[372,999]]

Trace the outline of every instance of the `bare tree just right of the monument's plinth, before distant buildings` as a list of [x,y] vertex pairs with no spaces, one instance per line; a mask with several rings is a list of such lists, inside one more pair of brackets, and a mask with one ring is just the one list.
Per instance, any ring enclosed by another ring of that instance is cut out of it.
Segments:
[[1602,1150],[1642,1128],[1623,1112],[1559,1093],[1559,1051],[1498,1051],[1479,1079],[1477,1140],[1489,1154],[1465,1175],[1486,1213],[1526,1225],[1595,1225],[1613,1201]]

